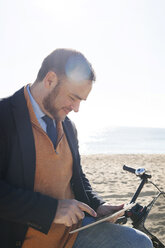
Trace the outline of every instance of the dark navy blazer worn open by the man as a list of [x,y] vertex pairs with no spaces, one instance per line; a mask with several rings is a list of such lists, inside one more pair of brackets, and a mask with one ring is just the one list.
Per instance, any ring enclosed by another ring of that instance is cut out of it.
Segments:
[[[85,177],[76,129],[63,121],[72,156],[75,198],[97,209],[103,201]],[[58,200],[34,192],[35,145],[24,88],[0,101],[0,247],[21,247],[29,226],[48,233]]]

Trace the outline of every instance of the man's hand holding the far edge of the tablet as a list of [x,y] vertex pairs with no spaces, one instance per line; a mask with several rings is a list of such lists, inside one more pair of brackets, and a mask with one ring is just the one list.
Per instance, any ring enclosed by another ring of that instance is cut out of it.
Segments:
[[[98,215],[98,217],[105,216],[105,215],[111,215],[111,214],[114,214],[116,211],[121,210],[123,207],[124,207],[124,204],[119,205],[119,206],[113,206],[113,205],[110,205],[108,203],[104,203],[103,205],[100,205],[98,207],[97,215]],[[113,219],[110,219],[109,221],[112,223],[115,223],[119,217],[123,216],[123,214],[124,214],[124,211],[122,213],[118,214]]]

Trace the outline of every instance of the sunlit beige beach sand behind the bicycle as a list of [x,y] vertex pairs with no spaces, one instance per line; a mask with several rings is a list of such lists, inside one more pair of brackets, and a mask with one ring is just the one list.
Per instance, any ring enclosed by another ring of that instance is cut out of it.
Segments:
[[[114,155],[82,155],[82,167],[93,190],[105,201],[118,205],[129,203],[140,179],[123,170],[123,165],[145,168],[152,180],[165,191],[165,154],[114,154]],[[144,186],[137,202],[148,204],[158,191],[148,183]],[[152,228],[153,234],[165,243],[165,198],[153,207],[146,226]],[[128,223],[127,225],[130,225]]]

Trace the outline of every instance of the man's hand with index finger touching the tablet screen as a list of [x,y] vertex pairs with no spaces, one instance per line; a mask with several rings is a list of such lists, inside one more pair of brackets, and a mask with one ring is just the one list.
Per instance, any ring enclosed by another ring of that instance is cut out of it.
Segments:
[[72,226],[85,217],[84,211],[96,217],[96,212],[83,202],[77,200],[58,200],[54,223]]

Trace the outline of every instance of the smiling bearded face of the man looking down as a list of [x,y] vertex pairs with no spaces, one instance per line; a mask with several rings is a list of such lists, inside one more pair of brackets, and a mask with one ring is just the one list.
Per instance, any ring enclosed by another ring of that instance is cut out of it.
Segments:
[[80,102],[86,100],[92,89],[92,82],[58,82],[54,89],[43,99],[43,107],[56,120],[63,121],[66,115],[79,111]]

